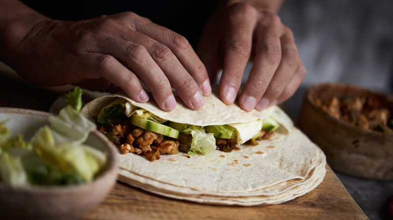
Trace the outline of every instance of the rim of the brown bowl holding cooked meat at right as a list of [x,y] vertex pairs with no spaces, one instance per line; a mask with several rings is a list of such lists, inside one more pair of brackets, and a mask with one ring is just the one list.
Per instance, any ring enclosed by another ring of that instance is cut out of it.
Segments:
[[[380,136],[380,137],[388,137],[388,136],[393,137],[393,133],[383,133],[383,132],[374,131],[374,130],[370,130],[370,129],[359,128],[359,127],[357,127],[355,125],[352,125],[351,123],[346,122],[344,120],[336,119],[336,118],[332,117],[329,113],[326,113],[325,111],[323,111],[320,107],[318,107],[316,105],[313,97],[314,97],[314,92],[315,91],[318,91],[318,89],[320,89],[323,86],[327,86],[327,85],[333,85],[333,86],[338,86],[338,87],[346,87],[346,88],[349,88],[349,89],[363,90],[365,92],[372,93],[372,94],[375,94],[375,95],[378,95],[378,96],[384,96],[384,97],[386,97],[386,100],[388,100],[388,101],[390,101],[392,103],[393,103],[393,97],[391,97],[391,96],[389,96],[387,94],[384,94],[384,93],[372,90],[372,89],[368,89],[368,88],[362,87],[362,86],[353,85],[353,84],[347,84],[347,83],[339,83],[339,82],[317,83],[317,84],[314,84],[314,85],[310,86],[309,88],[307,88],[307,91],[306,91],[306,98],[311,103],[311,105],[314,107],[314,109],[316,109],[316,111],[319,114],[322,113],[322,115],[325,118],[328,118],[328,119],[332,120],[335,124],[343,126],[346,129],[348,129],[348,130],[354,130],[354,131],[359,132],[361,134],[374,135],[374,136]],[[393,112],[393,109],[389,109],[389,111]]]

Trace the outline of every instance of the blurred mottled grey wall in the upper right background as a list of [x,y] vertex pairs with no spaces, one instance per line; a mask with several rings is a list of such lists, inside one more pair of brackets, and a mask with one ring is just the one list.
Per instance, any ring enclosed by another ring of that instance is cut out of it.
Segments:
[[393,90],[392,0],[288,0],[279,14],[307,69],[302,87],[338,81]]

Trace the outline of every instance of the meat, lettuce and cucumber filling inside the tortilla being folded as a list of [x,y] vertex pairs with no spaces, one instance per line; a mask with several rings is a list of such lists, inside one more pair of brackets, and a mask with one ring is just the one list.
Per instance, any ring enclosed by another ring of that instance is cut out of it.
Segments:
[[136,153],[150,161],[179,151],[191,156],[214,150],[231,152],[243,143],[257,145],[255,140],[269,139],[279,128],[272,117],[229,125],[180,124],[161,119],[123,98],[105,106],[96,123],[122,154]]

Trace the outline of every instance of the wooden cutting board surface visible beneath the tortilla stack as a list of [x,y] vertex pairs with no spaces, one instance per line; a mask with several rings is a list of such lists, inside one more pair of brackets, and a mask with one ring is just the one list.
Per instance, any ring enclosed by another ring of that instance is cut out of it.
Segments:
[[278,205],[224,206],[170,199],[117,182],[82,219],[368,219],[329,165],[311,192]]

